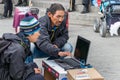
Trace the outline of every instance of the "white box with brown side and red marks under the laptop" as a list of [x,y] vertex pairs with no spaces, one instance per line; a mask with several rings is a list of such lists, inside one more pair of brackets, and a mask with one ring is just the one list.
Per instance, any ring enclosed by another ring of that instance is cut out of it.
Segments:
[[42,72],[45,80],[67,80],[67,71],[56,64],[54,60],[43,60]]

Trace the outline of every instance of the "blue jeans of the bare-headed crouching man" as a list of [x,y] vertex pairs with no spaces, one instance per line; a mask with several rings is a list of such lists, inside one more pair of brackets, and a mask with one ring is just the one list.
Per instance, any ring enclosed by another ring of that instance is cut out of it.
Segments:
[[[32,51],[33,54],[26,59],[26,63],[33,62],[34,58],[46,58],[46,57],[50,57],[49,54],[44,53],[43,51],[41,51],[38,48],[36,48],[34,44],[31,44],[31,51]],[[72,47],[72,45],[70,43],[66,43],[61,48],[61,51],[72,52],[73,51],[73,47]],[[55,57],[52,56],[50,59],[54,59],[54,58]]]

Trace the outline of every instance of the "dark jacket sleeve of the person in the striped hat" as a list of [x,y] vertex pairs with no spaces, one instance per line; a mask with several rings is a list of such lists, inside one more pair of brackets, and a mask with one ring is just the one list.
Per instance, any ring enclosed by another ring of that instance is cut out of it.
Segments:
[[[5,51],[5,61],[9,63],[9,73],[14,80],[23,80],[30,74],[34,73],[34,69],[26,68],[24,63],[26,54],[24,48],[19,44],[12,44]],[[9,57],[9,58],[8,58]]]

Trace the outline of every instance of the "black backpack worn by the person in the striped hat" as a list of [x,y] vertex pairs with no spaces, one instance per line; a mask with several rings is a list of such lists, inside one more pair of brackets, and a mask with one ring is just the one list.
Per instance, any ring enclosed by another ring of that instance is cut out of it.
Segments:
[[[9,71],[8,71],[9,68],[8,68],[7,64],[5,64],[1,61],[2,54],[13,42],[14,41],[12,41],[12,40],[6,40],[3,38],[0,38],[0,80],[3,80],[3,79],[13,80],[9,75]],[[29,48],[27,47],[27,45],[24,42],[22,42],[22,41],[17,41],[17,42],[25,48],[26,52],[29,51]]]

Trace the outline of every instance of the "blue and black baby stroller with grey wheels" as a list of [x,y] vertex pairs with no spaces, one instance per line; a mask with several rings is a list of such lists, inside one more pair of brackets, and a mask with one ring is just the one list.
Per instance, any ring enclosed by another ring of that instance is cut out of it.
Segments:
[[[100,12],[102,16],[100,19],[95,19],[94,31],[100,32],[102,37],[105,37],[107,32],[113,35],[114,28],[112,26],[120,21],[120,0],[102,0]],[[120,34],[120,27],[116,28],[116,30],[116,34]]]

